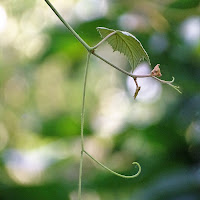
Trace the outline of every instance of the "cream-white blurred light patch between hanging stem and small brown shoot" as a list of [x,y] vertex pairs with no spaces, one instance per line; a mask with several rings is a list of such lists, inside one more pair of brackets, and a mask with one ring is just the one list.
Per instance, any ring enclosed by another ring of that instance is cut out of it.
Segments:
[[107,90],[101,97],[101,105],[93,119],[95,132],[103,137],[117,134],[124,126],[129,100],[122,90]]

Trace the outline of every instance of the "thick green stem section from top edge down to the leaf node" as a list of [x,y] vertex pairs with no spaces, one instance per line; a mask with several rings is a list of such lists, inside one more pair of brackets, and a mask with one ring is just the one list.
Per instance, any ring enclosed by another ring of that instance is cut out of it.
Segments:
[[57,17],[62,21],[62,23],[68,28],[69,31],[76,37],[77,40],[87,49],[87,51],[91,51],[92,47],[90,47],[77,33],[74,29],[63,19],[63,17],[59,14],[59,12],[55,9],[55,7],[49,2],[49,0],[45,0],[45,2],[49,5],[49,7],[53,10],[53,12],[57,15]]

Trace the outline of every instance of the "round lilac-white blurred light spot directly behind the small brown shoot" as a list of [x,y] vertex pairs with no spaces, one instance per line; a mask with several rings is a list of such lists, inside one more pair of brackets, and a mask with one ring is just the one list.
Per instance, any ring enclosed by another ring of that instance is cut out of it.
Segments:
[[[145,75],[145,74],[150,74],[151,70],[150,67],[148,66],[147,63],[141,63],[135,70],[134,73],[135,75]],[[152,79],[152,78],[138,78],[137,79],[138,85],[141,86],[141,90],[138,93],[137,100],[141,102],[155,102],[157,101],[162,92],[162,87],[161,84]],[[133,78],[128,77],[127,78],[127,87],[128,91],[131,96],[134,95],[136,85],[133,80]]]

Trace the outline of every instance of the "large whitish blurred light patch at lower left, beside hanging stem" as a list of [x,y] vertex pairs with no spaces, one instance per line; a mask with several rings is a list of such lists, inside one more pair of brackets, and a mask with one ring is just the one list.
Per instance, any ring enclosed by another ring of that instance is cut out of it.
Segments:
[[37,184],[44,170],[61,159],[72,156],[73,148],[61,140],[33,150],[8,149],[3,160],[9,176],[19,184]]

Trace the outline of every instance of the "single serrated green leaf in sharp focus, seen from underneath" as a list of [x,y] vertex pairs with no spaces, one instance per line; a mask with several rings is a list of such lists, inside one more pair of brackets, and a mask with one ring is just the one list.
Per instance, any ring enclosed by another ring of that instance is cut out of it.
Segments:
[[104,27],[98,27],[97,30],[102,38],[116,32],[107,39],[107,42],[112,46],[114,51],[119,51],[127,57],[132,70],[144,59],[151,65],[147,52],[140,41],[132,34],[126,31],[115,31]]

